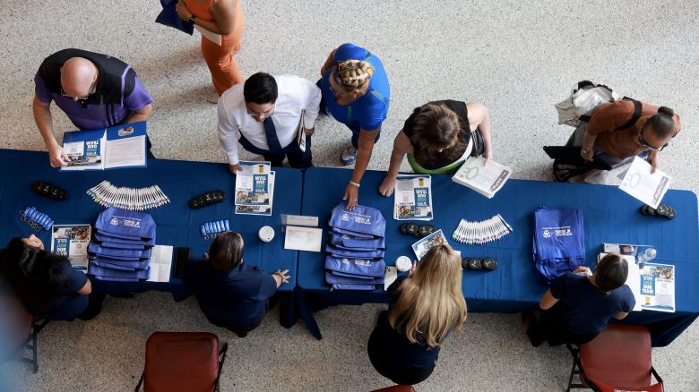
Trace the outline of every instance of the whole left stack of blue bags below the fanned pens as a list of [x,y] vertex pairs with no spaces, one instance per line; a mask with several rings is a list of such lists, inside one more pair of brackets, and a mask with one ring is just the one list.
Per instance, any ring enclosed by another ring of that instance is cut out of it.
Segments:
[[155,222],[149,214],[109,207],[95,223],[88,275],[118,282],[148,279],[154,245]]

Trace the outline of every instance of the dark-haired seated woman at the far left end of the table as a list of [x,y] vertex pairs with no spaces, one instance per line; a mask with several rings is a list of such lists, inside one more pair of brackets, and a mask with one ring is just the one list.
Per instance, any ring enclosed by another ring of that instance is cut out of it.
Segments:
[[0,251],[0,279],[37,319],[91,320],[101,311],[104,294],[65,256],[44,250],[34,234],[13,238]]

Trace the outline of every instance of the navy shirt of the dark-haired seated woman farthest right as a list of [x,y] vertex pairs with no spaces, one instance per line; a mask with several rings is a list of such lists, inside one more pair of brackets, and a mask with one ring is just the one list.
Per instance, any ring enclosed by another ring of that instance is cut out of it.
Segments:
[[627,285],[601,295],[587,276],[573,272],[552,280],[550,290],[559,300],[552,311],[560,324],[582,335],[601,332],[615,314],[632,311],[636,303]]

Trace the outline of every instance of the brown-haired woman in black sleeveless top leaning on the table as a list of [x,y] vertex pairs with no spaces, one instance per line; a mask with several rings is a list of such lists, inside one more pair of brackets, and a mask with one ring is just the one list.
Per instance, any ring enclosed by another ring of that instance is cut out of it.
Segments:
[[379,192],[391,196],[405,154],[415,173],[427,175],[453,175],[469,157],[492,158],[490,127],[488,108],[477,103],[446,99],[417,107],[393,141]]

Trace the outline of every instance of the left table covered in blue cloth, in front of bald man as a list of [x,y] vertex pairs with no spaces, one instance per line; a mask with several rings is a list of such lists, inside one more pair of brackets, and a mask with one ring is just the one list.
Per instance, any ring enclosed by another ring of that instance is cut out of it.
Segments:
[[[281,285],[284,309],[280,322],[293,324],[294,307],[291,293],[296,286],[298,251],[283,249],[280,214],[298,214],[301,205],[302,173],[289,168],[276,168],[274,199],[271,217],[236,215],[232,209],[235,178],[227,166],[221,164],[149,159],[147,168],[128,168],[104,171],[60,172],[48,164],[42,152],[0,149],[0,241],[9,242],[15,236],[36,234],[50,248],[50,233],[34,230],[20,220],[19,211],[33,206],[52,217],[57,225],[94,224],[102,207],[93,202],[86,191],[103,180],[115,186],[139,188],[157,184],[171,202],[159,209],[148,211],[156,223],[156,243],[185,246],[194,258],[202,257],[212,240],[205,241],[199,226],[205,222],[229,219],[232,230],[243,236],[244,259],[267,272],[289,268],[288,285]],[[41,180],[60,186],[69,192],[64,201],[49,200],[32,192],[31,184]],[[188,200],[203,192],[221,190],[227,200],[202,209],[190,209]],[[272,226],[276,235],[271,243],[259,240],[257,231]],[[4,247],[5,243],[0,243]],[[171,274],[174,274],[174,266]],[[176,300],[189,293],[182,280],[171,276],[168,283],[142,281],[138,283],[108,282],[92,279],[93,289],[105,294],[124,294],[158,290],[171,292]],[[286,294],[285,296],[283,294]]]

